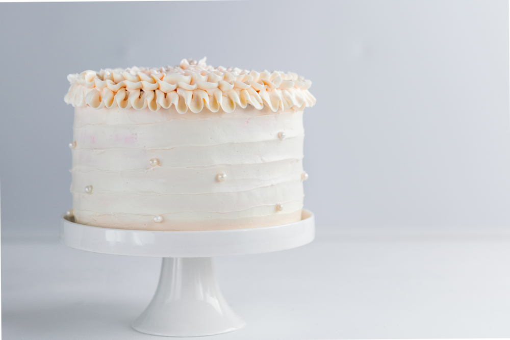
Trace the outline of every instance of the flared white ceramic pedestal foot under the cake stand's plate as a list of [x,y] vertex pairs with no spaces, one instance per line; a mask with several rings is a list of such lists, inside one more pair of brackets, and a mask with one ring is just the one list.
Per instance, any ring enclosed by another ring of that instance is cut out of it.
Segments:
[[221,295],[211,257],[164,257],[156,294],[132,326],[152,335],[203,336],[244,325]]

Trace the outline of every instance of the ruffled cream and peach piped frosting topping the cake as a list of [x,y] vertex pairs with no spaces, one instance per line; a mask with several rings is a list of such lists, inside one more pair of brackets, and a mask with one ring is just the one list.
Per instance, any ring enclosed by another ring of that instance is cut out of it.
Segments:
[[179,66],[84,71],[67,76],[71,87],[64,97],[74,107],[94,109],[149,108],[157,111],[172,104],[179,113],[200,112],[204,107],[232,112],[251,104],[278,109],[302,110],[315,104],[308,91],[312,82],[291,72],[256,72],[213,67],[206,58],[183,59]]

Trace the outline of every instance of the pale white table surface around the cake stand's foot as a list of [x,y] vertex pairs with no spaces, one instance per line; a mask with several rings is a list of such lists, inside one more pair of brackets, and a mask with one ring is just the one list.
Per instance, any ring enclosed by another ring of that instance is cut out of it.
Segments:
[[[162,339],[130,327],[154,294],[160,263],[3,237],[2,337]],[[505,233],[318,230],[312,244],[215,265],[247,326],[211,340],[510,337]]]

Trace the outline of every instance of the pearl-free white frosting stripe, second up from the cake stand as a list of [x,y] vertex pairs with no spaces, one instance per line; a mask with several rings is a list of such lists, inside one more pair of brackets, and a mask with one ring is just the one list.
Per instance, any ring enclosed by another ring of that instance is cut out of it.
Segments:
[[159,215],[177,212],[228,213],[256,206],[276,206],[278,203],[302,199],[301,180],[283,182],[265,188],[242,192],[197,195],[132,194],[132,193],[72,193],[73,206],[81,210],[103,213]]

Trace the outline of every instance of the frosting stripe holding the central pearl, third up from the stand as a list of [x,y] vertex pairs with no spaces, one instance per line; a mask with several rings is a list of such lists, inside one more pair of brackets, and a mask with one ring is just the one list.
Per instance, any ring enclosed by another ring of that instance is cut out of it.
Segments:
[[[218,181],[219,173],[226,180]],[[71,192],[84,192],[93,185],[94,193],[131,192],[154,194],[202,194],[246,191],[301,179],[302,162],[278,161],[261,164],[238,164],[212,168],[151,168],[148,171],[104,172],[72,171]]]

